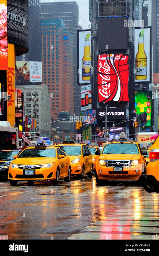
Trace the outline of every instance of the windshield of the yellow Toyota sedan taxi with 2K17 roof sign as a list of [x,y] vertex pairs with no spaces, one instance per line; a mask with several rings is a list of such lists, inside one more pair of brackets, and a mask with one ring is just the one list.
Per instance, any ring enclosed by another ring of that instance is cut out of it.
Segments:
[[31,148],[24,150],[18,158],[22,157],[56,157],[54,148]]

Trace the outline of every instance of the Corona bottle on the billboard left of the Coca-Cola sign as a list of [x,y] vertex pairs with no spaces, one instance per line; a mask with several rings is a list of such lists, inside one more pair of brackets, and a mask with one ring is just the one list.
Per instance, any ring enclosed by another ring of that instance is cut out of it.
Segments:
[[90,53],[90,43],[89,36],[87,34],[85,37],[85,47],[84,47],[84,57],[82,58],[82,80],[89,81],[91,77],[91,53]]

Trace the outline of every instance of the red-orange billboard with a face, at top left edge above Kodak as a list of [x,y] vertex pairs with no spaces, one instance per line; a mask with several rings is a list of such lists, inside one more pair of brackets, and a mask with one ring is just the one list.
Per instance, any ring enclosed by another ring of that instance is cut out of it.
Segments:
[[0,0],[0,70],[8,70],[7,0]]

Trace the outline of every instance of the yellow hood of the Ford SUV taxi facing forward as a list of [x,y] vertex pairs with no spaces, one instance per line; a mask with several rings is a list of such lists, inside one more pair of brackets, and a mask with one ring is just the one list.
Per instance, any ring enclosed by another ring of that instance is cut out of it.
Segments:
[[100,160],[139,160],[140,155],[131,154],[105,154],[100,155]]

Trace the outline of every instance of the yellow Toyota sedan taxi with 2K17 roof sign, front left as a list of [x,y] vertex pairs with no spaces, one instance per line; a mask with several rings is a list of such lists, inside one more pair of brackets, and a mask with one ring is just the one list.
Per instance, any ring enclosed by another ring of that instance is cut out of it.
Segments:
[[8,179],[12,186],[19,180],[32,183],[35,180],[51,180],[58,184],[59,179],[70,181],[70,159],[65,152],[54,146],[47,147],[45,143],[37,143],[14,156],[9,166]]

